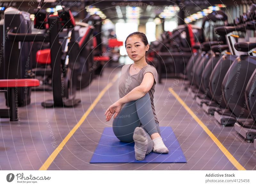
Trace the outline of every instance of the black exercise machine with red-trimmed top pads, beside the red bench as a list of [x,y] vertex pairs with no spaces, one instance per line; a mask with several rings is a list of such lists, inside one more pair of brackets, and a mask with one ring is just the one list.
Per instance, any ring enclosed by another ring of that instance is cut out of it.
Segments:
[[[78,43],[72,41],[72,31],[68,31],[68,38],[65,45],[64,53],[62,53],[61,44],[59,42],[59,33],[64,28],[74,27],[74,18],[69,9],[58,11],[58,15],[50,15],[47,17],[44,10],[40,7],[44,1],[41,1],[38,8],[35,9],[35,28],[44,29],[48,23],[51,30],[47,30],[44,34],[29,34],[27,31],[22,31],[17,34],[17,26],[14,27],[12,24],[12,29],[9,30],[8,36],[8,46],[12,44],[18,45],[20,41],[23,42],[49,42],[50,51],[48,50],[48,55],[51,59],[51,78],[52,78],[52,94],[53,100],[45,101],[42,103],[44,107],[52,106],[75,106],[80,100],[75,99],[76,93],[76,69],[75,61],[78,55]],[[7,10],[7,9],[6,9]],[[17,9],[16,9],[17,10]],[[29,19],[29,15],[28,19]],[[13,15],[10,16],[11,18]],[[5,18],[6,19],[6,18]],[[44,22],[47,20],[47,22]],[[9,51],[9,50],[5,50]],[[12,51],[12,50],[10,50]],[[27,50],[29,52],[29,50]],[[45,54],[45,53],[44,53]],[[45,56],[45,55],[43,55]],[[40,57],[38,57],[40,58]],[[49,61],[46,61],[48,63]],[[60,66],[60,68],[56,68]],[[72,78],[74,75],[75,78]]]

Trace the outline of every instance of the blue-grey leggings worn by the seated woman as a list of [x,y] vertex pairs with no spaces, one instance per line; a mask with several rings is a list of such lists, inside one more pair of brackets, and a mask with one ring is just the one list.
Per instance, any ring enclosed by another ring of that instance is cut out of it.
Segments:
[[[155,121],[149,94],[123,105],[113,120],[113,131],[116,137],[123,142],[133,142],[133,132],[136,127],[142,127],[148,138],[148,148],[153,148],[151,135],[160,134],[160,128]],[[151,148],[151,149],[152,149]]]

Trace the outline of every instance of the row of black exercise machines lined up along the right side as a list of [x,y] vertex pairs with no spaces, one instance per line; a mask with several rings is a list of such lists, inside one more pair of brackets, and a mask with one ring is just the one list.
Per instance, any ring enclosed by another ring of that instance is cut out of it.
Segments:
[[256,5],[232,24],[214,27],[227,16],[222,11],[212,15],[209,25],[215,41],[193,46],[196,52],[186,66],[185,89],[221,126],[234,126],[256,148],[256,43],[248,42],[256,30]]

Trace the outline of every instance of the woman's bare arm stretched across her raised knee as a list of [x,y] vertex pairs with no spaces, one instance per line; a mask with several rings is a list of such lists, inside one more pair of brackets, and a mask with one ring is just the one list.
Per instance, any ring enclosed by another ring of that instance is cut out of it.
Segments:
[[104,113],[104,115],[106,115],[106,121],[109,121],[115,112],[116,114],[114,115],[114,118],[116,118],[117,114],[120,112],[122,106],[125,103],[137,100],[147,94],[148,91],[152,88],[153,84],[154,75],[151,72],[145,73],[143,80],[138,87],[135,87],[124,97],[120,98],[113,105],[108,107],[107,111]]

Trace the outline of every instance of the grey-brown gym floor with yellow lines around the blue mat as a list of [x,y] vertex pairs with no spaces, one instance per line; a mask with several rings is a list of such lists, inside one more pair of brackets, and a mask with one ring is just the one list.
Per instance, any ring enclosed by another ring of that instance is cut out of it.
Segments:
[[[183,89],[181,79],[158,83],[154,103],[160,126],[172,127],[187,163],[90,164],[103,129],[112,126],[113,118],[106,122],[104,112],[119,97],[120,72],[121,68],[104,68],[102,76],[77,92],[81,104],[74,108],[44,109],[41,102],[51,99],[51,92],[32,91],[31,104],[19,108],[20,121],[0,120],[0,169],[256,170],[253,143],[247,143],[233,127],[221,127],[214,117],[210,119],[202,108],[198,109]],[[170,87],[198,120],[169,92]],[[0,105],[5,105],[4,94],[0,94]]]

